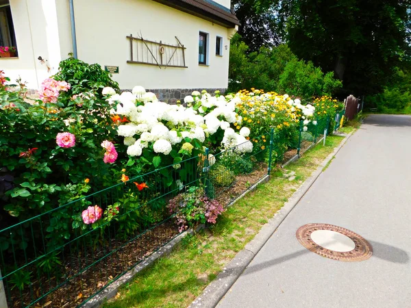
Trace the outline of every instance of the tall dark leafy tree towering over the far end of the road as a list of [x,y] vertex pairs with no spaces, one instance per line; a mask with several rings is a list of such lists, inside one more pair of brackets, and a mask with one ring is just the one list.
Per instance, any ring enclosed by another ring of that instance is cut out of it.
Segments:
[[410,3],[291,0],[281,2],[278,12],[297,57],[334,70],[343,81],[344,94],[373,94],[410,53]]

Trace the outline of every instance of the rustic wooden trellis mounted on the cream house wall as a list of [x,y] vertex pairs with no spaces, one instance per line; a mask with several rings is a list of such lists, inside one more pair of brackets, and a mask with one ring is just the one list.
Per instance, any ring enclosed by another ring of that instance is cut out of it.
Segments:
[[154,65],[159,68],[183,67],[186,66],[186,47],[177,40],[176,45],[153,42],[140,37],[134,37],[132,34],[127,36],[130,41],[130,60],[127,63]]

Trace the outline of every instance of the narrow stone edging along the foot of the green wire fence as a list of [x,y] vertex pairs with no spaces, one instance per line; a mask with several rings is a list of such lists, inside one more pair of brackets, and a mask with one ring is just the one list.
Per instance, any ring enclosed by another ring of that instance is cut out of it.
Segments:
[[[235,198],[232,202],[230,202],[227,207],[232,206],[236,201],[240,200],[242,197],[244,197],[246,194],[249,192],[255,190],[257,186],[260,183],[264,183],[266,181],[269,181],[269,175],[265,175],[260,179],[257,183],[251,185],[245,192],[242,192],[240,196]],[[85,308],[98,308],[105,303],[106,300],[116,296],[117,292],[119,292],[119,288],[124,285],[125,283],[129,283],[134,279],[134,276],[144,270],[145,268],[151,266],[154,261],[160,259],[160,257],[165,257],[166,255],[169,255],[171,251],[175,248],[175,246],[183,240],[183,238],[186,237],[188,234],[193,234],[195,232],[200,231],[201,229],[206,228],[205,224],[199,224],[199,226],[194,230],[188,229],[187,231],[184,231],[183,233],[177,235],[173,240],[162,246],[161,248],[158,249],[158,251],[155,251],[152,253],[147,259],[141,261],[139,264],[137,264],[132,270],[129,270],[123,276],[121,276],[119,279],[105,287],[101,292],[96,294],[94,297],[90,298],[86,303],[81,305],[80,307],[85,307]]]

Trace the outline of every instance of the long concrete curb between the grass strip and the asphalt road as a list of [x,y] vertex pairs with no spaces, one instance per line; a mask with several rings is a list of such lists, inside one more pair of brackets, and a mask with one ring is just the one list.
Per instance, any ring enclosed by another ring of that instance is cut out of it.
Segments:
[[240,274],[247,268],[267,240],[271,238],[271,235],[275,233],[279,225],[284,221],[288,214],[290,214],[290,211],[292,211],[295,205],[299,203],[304,194],[308,192],[312,184],[314,184],[316,179],[318,179],[323,172],[323,168],[331,161],[334,155],[340,151],[352,134],[353,132],[349,133],[340,145],[324,159],[312,175],[306,179],[294,194],[292,194],[291,198],[284,204],[284,207],[277,211],[269,222],[264,224],[256,237],[253,238],[242,251],[237,253],[236,257],[234,257],[234,259],[232,259],[232,261],[230,261],[223,269],[223,272],[221,272],[216,279],[206,287],[203,293],[198,296],[188,308],[212,308],[219,304],[221,298],[229,292],[229,289],[234,285],[238,277],[240,277]]

